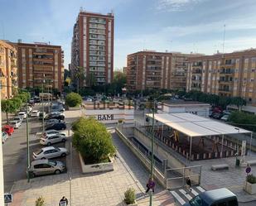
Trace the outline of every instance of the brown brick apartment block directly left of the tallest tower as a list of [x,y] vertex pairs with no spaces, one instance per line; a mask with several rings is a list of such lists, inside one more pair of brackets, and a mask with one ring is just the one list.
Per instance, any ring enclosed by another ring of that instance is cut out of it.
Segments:
[[64,52],[61,46],[46,43],[27,44],[18,41],[17,68],[19,88],[49,88],[62,90],[64,84]]

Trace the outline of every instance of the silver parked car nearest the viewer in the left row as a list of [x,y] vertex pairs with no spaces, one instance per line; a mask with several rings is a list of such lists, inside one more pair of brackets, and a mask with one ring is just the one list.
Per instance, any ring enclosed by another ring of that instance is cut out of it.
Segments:
[[34,160],[28,170],[31,177],[37,175],[60,174],[66,170],[66,166],[61,161],[56,160]]

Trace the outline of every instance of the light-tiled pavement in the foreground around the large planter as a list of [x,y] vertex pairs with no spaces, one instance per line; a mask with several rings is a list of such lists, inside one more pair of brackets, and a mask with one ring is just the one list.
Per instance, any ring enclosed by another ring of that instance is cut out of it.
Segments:
[[[148,172],[137,160],[128,147],[113,133],[114,145],[118,149],[118,158],[114,162],[114,171],[102,174],[83,175],[80,172],[77,152],[73,150],[72,170],[70,156],[67,156],[68,173],[36,177],[30,183],[18,181],[12,189],[13,203],[10,206],[34,206],[36,198],[43,196],[46,206],[57,206],[62,196],[72,206],[123,206],[123,194],[133,187],[138,196],[138,205],[149,204],[149,195],[144,195]],[[68,147],[69,144],[66,146]],[[70,184],[70,172],[72,180]],[[167,189],[156,185],[153,205],[175,205]]]

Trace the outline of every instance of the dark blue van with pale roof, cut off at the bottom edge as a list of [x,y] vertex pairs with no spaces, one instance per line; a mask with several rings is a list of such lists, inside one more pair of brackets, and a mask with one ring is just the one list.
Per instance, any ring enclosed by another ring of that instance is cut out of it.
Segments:
[[232,205],[238,206],[238,200],[234,193],[229,189],[220,188],[205,191],[196,195],[195,198],[191,199],[184,206],[215,206],[215,205]]

